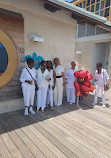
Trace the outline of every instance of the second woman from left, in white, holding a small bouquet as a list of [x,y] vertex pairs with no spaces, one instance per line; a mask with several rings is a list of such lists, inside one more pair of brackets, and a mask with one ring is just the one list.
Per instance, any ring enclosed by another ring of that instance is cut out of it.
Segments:
[[46,69],[47,64],[46,61],[41,61],[41,66],[37,70],[37,111],[41,108],[44,111],[46,107],[46,98],[47,98],[47,90],[50,81],[50,73]]

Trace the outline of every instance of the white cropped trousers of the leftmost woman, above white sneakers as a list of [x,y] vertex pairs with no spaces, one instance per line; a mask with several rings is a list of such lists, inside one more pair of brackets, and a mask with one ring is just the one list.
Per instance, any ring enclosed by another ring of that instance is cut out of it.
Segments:
[[27,87],[22,87],[23,97],[24,97],[24,105],[25,106],[33,106],[34,104],[34,96],[35,89],[29,89]]

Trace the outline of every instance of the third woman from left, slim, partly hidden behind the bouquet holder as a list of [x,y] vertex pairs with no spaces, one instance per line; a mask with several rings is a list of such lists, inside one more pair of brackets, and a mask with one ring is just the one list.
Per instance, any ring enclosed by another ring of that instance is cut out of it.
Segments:
[[53,70],[51,61],[47,61],[47,69],[50,73],[50,78],[51,78],[51,80],[49,81],[48,92],[47,92],[47,105],[50,104],[51,109],[54,109],[53,108],[53,91],[55,89],[55,84],[56,84],[56,73]]

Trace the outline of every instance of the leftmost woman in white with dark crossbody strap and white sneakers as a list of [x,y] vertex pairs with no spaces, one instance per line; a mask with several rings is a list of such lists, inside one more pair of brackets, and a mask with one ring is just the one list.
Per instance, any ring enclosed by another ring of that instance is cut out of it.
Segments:
[[35,114],[33,111],[34,96],[35,96],[35,83],[36,83],[36,69],[34,68],[34,60],[31,58],[27,59],[28,67],[23,68],[20,82],[22,82],[22,92],[24,97],[25,111],[24,115],[28,115],[29,112]]

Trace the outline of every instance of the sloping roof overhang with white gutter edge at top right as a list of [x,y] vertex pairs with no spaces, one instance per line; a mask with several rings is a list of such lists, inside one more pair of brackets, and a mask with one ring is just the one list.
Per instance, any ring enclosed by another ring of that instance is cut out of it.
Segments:
[[92,25],[100,25],[111,31],[111,22],[106,18],[93,14],[85,9],[77,7],[74,4],[65,2],[64,0],[43,0],[45,9],[56,12],[57,10],[65,9],[72,13],[72,18],[77,20],[77,23],[90,23]]

